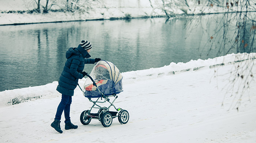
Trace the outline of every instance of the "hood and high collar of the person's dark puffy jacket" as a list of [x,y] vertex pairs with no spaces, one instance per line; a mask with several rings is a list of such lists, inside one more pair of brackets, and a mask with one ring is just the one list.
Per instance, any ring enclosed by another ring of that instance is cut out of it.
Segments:
[[66,58],[68,59],[72,55],[82,55],[85,58],[91,57],[91,55],[80,45],[77,48],[69,48],[66,52]]

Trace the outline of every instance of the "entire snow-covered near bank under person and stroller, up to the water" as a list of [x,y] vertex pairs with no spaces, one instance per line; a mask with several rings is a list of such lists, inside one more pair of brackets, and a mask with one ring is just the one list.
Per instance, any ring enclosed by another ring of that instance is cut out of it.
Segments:
[[[81,112],[92,104],[79,88],[71,104],[71,121],[78,129],[64,130],[63,116],[63,134],[50,127],[61,99],[57,82],[0,92],[1,142],[255,143],[255,56],[238,53],[124,72],[124,91],[115,106],[127,110],[130,119],[120,124],[114,118],[108,128],[98,120],[80,123]],[[7,104],[22,96],[40,99]]]

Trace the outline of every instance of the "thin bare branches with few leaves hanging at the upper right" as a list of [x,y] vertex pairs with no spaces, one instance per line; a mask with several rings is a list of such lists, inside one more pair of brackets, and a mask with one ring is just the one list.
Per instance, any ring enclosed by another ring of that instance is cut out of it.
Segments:
[[[251,3],[250,3],[251,2]],[[163,11],[170,13],[172,6],[172,0],[163,0]],[[187,1],[185,4],[191,9]],[[211,43],[210,52],[217,49],[216,56],[227,55],[230,52],[250,53],[256,52],[255,35],[256,35],[256,4],[249,0],[236,0],[234,2],[225,2],[218,0],[200,1],[198,0],[195,5],[199,5],[202,9],[200,13],[195,14],[190,20],[191,22],[186,25],[191,31],[192,29],[201,24],[200,19],[204,15],[212,15],[221,13],[222,17],[219,21],[216,21],[217,26],[214,28],[214,33],[209,33],[207,43]],[[166,8],[166,6],[168,6]],[[222,11],[210,13],[209,9],[217,7]],[[208,13],[207,13],[208,12]],[[191,15],[188,12],[184,12],[185,15]],[[167,14],[166,14],[167,15]],[[167,15],[169,17],[169,15]],[[177,17],[177,15],[176,15]],[[210,16],[209,16],[210,17]],[[214,19],[208,19],[208,21]],[[207,29],[206,29],[207,31]],[[207,44],[208,46],[208,44]],[[206,47],[203,47],[206,48]],[[208,48],[208,47],[207,47]],[[208,55],[207,54],[207,55]],[[252,67],[254,66],[252,60],[255,57],[243,57],[243,59],[235,59],[237,67],[234,71],[230,72],[230,85],[227,85],[227,89],[232,91],[230,96],[236,98],[234,100],[234,106],[238,110],[238,106],[241,103],[241,98],[245,94],[246,90],[250,87],[250,83],[253,80]],[[250,62],[249,62],[250,61]],[[224,100],[223,100],[224,101]]]

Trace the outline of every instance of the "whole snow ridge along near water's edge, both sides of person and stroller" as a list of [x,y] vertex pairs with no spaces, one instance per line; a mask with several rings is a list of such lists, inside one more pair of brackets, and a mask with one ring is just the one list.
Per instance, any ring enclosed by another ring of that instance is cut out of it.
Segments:
[[[147,79],[159,78],[163,75],[180,74],[187,71],[198,71],[202,69],[216,68],[218,66],[230,65],[240,61],[253,60],[256,53],[237,53],[226,56],[216,57],[207,60],[191,60],[187,63],[170,63],[160,68],[150,68],[145,70],[123,72],[123,85],[130,84]],[[79,84],[83,85],[85,78],[79,80]],[[58,82],[46,84],[44,86],[27,87],[15,90],[5,90],[0,92],[0,106],[18,104],[27,100],[39,98],[53,98],[61,94],[56,91]],[[79,87],[75,89],[79,91]]]

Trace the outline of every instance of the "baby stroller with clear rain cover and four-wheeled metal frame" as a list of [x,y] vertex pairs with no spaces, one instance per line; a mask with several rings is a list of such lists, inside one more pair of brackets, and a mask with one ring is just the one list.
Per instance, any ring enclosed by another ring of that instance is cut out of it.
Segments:
[[[90,110],[85,110],[81,113],[80,122],[87,125],[91,122],[91,119],[98,119],[102,126],[109,127],[112,124],[112,119],[118,117],[118,121],[121,124],[126,124],[129,120],[128,111],[116,108],[113,104],[118,98],[117,94],[123,91],[123,76],[118,68],[112,62],[100,60],[93,67],[91,74],[86,74],[86,76],[88,78],[84,83],[85,91],[78,86],[84,93],[84,96],[93,103],[93,106]],[[114,97],[112,102],[110,102],[110,97]],[[109,107],[101,107],[99,105],[107,102],[110,103]],[[116,111],[109,111],[112,106]],[[98,109],[98,112],[91,113],[93,108]]]

